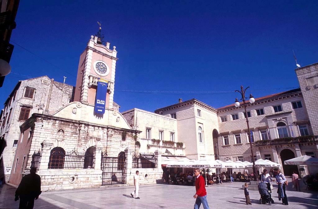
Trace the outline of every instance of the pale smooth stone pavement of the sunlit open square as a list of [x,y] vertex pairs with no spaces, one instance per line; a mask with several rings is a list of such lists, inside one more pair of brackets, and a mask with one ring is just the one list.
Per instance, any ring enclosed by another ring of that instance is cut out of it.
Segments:
[[[287,197],[289,206],[278,201],[277,185],[274,186],[273,199],[275,204],[259,205],[258,191],[250,191],[251,206],[245,205],[244,190],[240,182],[224,183],[207,187],[210,208],[318,208],[318,192],[296,192],[289,184]],[[14,202],[15,188],[4,185],[0,193],[0,208],[18,208],[18,201]],[[35,200],[34,208],[193,208],[195,194],[194,186],[183,185],[141,185],[139,197],[133,199],[130,193],[134,187],[123,186],[113,188],[78,189],[43,192]],[[203,208],[203,206],[201,206]]]

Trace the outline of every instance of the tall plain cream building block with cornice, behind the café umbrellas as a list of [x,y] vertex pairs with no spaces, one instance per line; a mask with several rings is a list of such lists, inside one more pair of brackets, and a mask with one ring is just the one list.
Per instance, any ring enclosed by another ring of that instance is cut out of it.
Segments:
[[218,131],[217,110],[197,99],[190,99],[155,110],[176,119],[178,141],[185,143],[190,159],[214,159],[213,131]]

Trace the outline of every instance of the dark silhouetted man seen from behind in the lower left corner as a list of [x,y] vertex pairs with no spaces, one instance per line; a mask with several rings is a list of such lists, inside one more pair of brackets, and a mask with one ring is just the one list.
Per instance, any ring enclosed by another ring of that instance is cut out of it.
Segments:
[[19,209],[32,209],[34,199],[38,199],[41,194],[41,177],[36,172],[36,168],[31,168],[30,174],[22,178],[17,188],[14,200],[20,198]]

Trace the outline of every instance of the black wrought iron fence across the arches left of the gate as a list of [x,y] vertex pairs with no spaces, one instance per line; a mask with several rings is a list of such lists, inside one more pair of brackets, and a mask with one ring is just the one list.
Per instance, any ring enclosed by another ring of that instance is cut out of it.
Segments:
[[[55,149],[55,148],[54,148]],[[49,169],[87,169],[93,168],[94,155],[90,152],[77,152],[75,150],[52,150],[49,160]]]

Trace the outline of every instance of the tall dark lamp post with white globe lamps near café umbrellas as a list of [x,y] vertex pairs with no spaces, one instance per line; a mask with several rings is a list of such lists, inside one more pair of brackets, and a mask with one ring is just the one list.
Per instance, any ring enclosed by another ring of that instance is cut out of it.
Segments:
[[[253,147],[252,147],[252,140],[251,140],[251,132],[250,132],[250,125],[248,123],[248,115],[247,115],[247,111],[246,111],[246,105],[245,105],[245,91],[250,88],[249,86],[244,89],[243,86],[241,85],[241,89],[240,90],[235,90],[235,92],[239,92],[242,96],[242,98],[240,100],[243,101],[243,105],[244,105],[244,110],[245,110],[245,118],[246,118],[246,123],[247,123],[247,131],[248,131],[248,137],[249,137],[249,140],[250,140],[250,146],[251,146],[251,153],[252,153],[252,162],[253,162],[253,177],[254,177],[254,181],[257,181],[257,176],[258,176],[258,173],[257,173],[257,168],[255,166],[255,160],[254,160],[254,152],[253,152]],[[252,96],[252,94],[250,94],[250,99],[249,99],[250,103],[253,104],[255,102],[255,99],[254,97]],[[239,100],[238,98],[235,99],[235,107],[239,107],[240,103],[239,103]]]

